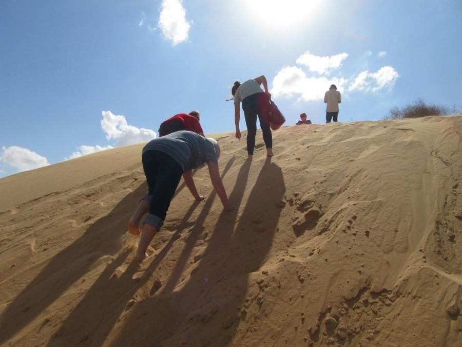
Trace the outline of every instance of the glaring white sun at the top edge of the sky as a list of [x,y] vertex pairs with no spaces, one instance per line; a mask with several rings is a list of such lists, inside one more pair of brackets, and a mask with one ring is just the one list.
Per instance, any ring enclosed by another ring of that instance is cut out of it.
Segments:
[[316,12],[320,0],[247,0],[252,16],[257,16],[257,24],[270,25],[275,29],[293,26],[309,21]]

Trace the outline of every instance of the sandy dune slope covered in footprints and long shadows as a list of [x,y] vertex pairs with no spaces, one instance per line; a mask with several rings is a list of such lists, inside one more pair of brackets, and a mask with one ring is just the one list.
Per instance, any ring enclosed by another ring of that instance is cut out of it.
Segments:
[[461,116],[217,139],[142,264],[142,144],[0,179],[0,345],[460,345]]

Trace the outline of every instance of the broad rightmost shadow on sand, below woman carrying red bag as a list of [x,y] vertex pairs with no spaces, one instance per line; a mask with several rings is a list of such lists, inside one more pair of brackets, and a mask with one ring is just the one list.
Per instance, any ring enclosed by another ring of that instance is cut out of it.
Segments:
[[[243,195],[246,186],[243,175],[248,173],[249,166],[248,161],[241,168],[230,201],[234,202],[238,194]],[[235,329],[231,327],[236,324],[247,288],[254,285],[249,283],[249,275],[261,268],[271,248],[284,192],[282,171],[268,159],[242,215],[238,216],[236,211],[220,215],[189,282],[174,291],[179,275],[173,273],[165,288],[132,306],[118,327],[117,337],[106,343],[223,346],[232,342]],[[178,266],[175,272],[181,270]]]

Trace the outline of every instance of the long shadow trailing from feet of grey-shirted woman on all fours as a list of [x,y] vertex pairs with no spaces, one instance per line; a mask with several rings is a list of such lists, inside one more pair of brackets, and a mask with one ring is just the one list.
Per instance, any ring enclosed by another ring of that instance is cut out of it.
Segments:
[[[234,158],[227,163],[221,174],[222,177],[230,169],[233,162]],[[179,189],[182,188],[184,186],[179,187]],[[201,215],[207,215],[212,202],[213,196],[207,198],[208,205],[204,206]],[[136,261],[132,261],[119,277],[114,276],[114,271],[123,264],[128,255],[126,251],[121,252],[119,257],[109,264],[98,280],[93,283],[85,297],[49,340],[47,346],[70,346],[82,343],[103,345],[124,310],[129,309],[130,305],[136,302],[134,297],[137,295],[137,291],[146,285],[146,282],[152,281],[153,273],[177,240],[176,235],[189,224],[188,220],[199,204],[199,202],[194,202],[186,211],[181,223],[175,227],[176,231],[142,272],[142,276],[136,275],[140,273],[144,264]]]

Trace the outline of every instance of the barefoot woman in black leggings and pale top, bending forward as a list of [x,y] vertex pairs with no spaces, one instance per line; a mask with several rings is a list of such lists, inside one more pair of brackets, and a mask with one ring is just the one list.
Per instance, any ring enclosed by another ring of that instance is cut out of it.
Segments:
[[[260,88],[263,84],[264,92]],[[242,109],[244,111],[245,124],[247,125],[247,154],[248,158],[252,159],[255,148],[255,136],[257,134],[257,116],[260,121],[261,131],[263,132],[263,141],[266,145],[266,156],[272,157],[273,154],[273,135],[269,129],[269,121],[266,117],[266,109],[271,99],[271,94],[268,92],[268,83],[262,75],[260,77],[245,81],[244,83],[234,82],[231,89],[231,94],[234,99],[234,121],[236,123],[236,138],[241,139],[241,131],[239,130],[239,120],[241,112],[239,103],[242,101]]]

